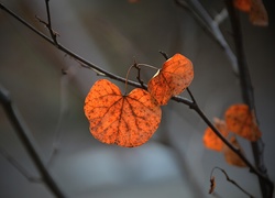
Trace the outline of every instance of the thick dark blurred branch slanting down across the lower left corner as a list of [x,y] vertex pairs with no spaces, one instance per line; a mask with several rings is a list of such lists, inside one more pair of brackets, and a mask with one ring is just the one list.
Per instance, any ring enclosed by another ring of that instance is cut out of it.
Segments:
[[0,85],[0,102],[12,123],[19,139],[21,140],[22,144],[24,145],[25,150],[30,154],[34,165],[38,169],[42,180],[47,185],[50,190],[58,198],[65,197],[64,193],[61,190],[52,175],[50,174],[46,165],[43,161],[42,154],[38,150],[38,146],[32,136],[32,133],[28,129],[26,124],[24,123],[18,108],[12,102],[8,90],[6,90]]

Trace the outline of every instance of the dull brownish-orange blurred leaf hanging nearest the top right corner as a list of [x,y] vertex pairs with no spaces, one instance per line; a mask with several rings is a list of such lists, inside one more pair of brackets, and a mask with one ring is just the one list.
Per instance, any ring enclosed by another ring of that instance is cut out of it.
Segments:
[[254,25],[267,26],[268,15],[262,0],[252,0],[250,21]]

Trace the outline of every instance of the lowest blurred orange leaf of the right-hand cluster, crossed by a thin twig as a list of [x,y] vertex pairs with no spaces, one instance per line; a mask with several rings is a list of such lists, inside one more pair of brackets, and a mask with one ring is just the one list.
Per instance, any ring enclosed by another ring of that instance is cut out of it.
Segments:
[[[241,153],[243,153],[243,150],[241,148],[241,145],[237,141],[235,136],[231,136],[229,142],[234,147],[239,148]],[[246,167],[246,164],[234,152],[232,152],[232,150],[230,150],[226,144],[223,148],[223,154],[228,164],[239,166],[239,167]]]

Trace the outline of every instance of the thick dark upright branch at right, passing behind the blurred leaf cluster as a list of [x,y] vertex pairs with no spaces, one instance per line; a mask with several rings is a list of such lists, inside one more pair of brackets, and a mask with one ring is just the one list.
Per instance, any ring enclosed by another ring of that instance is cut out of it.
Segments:
[[[253,91],[253,86],[251,82],[249,67],[248,67],[245,56],[244,56],[239,13],[234,9],[232,0],[226,0],[226,4],[228,8],[231,26],[233,31],[243,101],[250,107],[251,112],[255,112],[254,91]],[[251,147],[253,151],[255,166],[258,169],[258,172],[261,172],[261,174],[265,176],[264,178],[258,177],[262,196],[266,198],[271,198],[274,191],[274,184],[268,178],[267,170],[264,164],[262,140],[252,142]]]

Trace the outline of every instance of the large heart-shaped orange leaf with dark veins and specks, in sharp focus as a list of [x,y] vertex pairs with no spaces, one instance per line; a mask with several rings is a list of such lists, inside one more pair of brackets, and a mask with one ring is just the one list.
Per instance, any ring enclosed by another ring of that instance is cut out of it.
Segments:
[[162,117],[160,106],[147,91],[136,88],[122,96],[120,89],[106,79],[91,87],[84,110],[97,140],[125,147],[147,142]]

